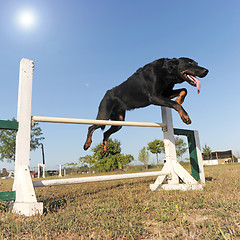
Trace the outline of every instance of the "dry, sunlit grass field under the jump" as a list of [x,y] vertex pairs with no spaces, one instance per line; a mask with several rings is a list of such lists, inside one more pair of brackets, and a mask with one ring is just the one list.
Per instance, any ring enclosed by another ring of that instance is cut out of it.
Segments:
[[0,239],[240,239],[240,164],[205,175],[203,191],[151,192],[155,178],[37,188],[42,216],[0,202]]

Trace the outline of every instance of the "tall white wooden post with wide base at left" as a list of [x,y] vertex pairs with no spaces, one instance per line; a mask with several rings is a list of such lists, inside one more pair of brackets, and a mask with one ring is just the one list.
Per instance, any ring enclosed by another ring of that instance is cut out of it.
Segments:
[[15,177],[13,191],[16,191],[12,211],[25,216],[41,214],[43,204],[37,202],[29,171],[32,78],[34,63],[22,59],[19,73],[18,112],[19,128],[16,137]]

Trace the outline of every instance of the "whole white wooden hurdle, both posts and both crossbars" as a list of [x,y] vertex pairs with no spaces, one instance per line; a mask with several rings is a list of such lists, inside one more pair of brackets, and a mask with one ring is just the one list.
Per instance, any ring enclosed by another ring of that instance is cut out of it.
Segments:
[[[166,190],[202,189],[202,185],[197,180],[195,180],[177,162],[171,109],[161,107],[163,123],[103,121],[103,120],[54,118],[39,116],[31,117],[33,67],[34,64],[32,60],[28,59],[21,60],[18,93],[18,114],[17,114],[19,130],[16,139],[15,179],[13,185],[13,190],[16,191],[16,201],[12,203],[13,212],[23,214],[25,216],[42,214],[43,204],[37,202],[34,187],[158,176],[155,183],[150,185],[151,190],[159,190],[161,188]],[[117,126],[158,127],[158,128],[161,127],[163,128],[164,132],[166,163],[164,164],[162,171],[158,172],[119,174],[98,177],[96,176],[32,182],[29,172],[29,158],[30,158],[30,130],[31,123],[34,124],[34,122],[98,124]],[[200,149],[200,144],[198,144],[198,148]],[[201,158],[199,158],[198,161],[201,162]],[[181,184],[179,183],[179,178],[183,181],[183,183]]]

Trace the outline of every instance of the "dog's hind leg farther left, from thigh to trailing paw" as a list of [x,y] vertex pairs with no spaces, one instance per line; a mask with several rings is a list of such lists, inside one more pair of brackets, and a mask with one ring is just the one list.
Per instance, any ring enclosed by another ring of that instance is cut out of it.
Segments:
[[[97,120],[108,120],[111,116],[111,112],[112,112],[113,108],[114,108],[114,101],[111,97],[111,92],[107,91],[99,105],[98,114],[97,114],[96,119]],[[96,125],[95,124],[88,128],[87,139],[83,146],[84,150],[87,150],[91,146],[93,132],[98,128],[101,128],[103,130],[105,128],[105,125]]]

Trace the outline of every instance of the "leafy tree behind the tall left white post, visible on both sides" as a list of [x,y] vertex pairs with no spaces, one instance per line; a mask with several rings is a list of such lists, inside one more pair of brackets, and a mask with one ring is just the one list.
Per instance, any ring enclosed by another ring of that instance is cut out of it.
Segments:
[[[12,121],[16,121],[15,118]],[[31,129],[30,149],[36,150],[44,139],[42,129],[36,123]],[[16,135],[14,130],[0,130],[0,160],[15,161]]]

